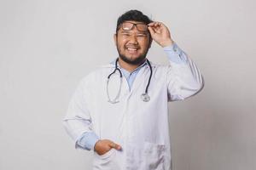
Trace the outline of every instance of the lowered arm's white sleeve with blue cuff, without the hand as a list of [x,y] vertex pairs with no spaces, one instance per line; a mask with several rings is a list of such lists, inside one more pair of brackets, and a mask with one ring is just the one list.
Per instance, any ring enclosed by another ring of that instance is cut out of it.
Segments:
[[85,150],[91,150],[98,139],[91,127],[90,111],[85,98],[88,93],[83,79],[75,90],[63,119],[63,126],[73,139],[75,148]]

